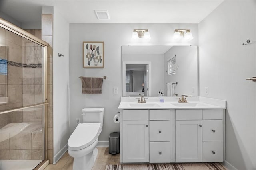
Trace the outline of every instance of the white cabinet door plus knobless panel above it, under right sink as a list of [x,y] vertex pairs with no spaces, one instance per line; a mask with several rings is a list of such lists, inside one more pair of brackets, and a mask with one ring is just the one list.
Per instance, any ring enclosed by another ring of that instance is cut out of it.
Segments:
[[176,162],[202,162],[202,110],[176,110]]

